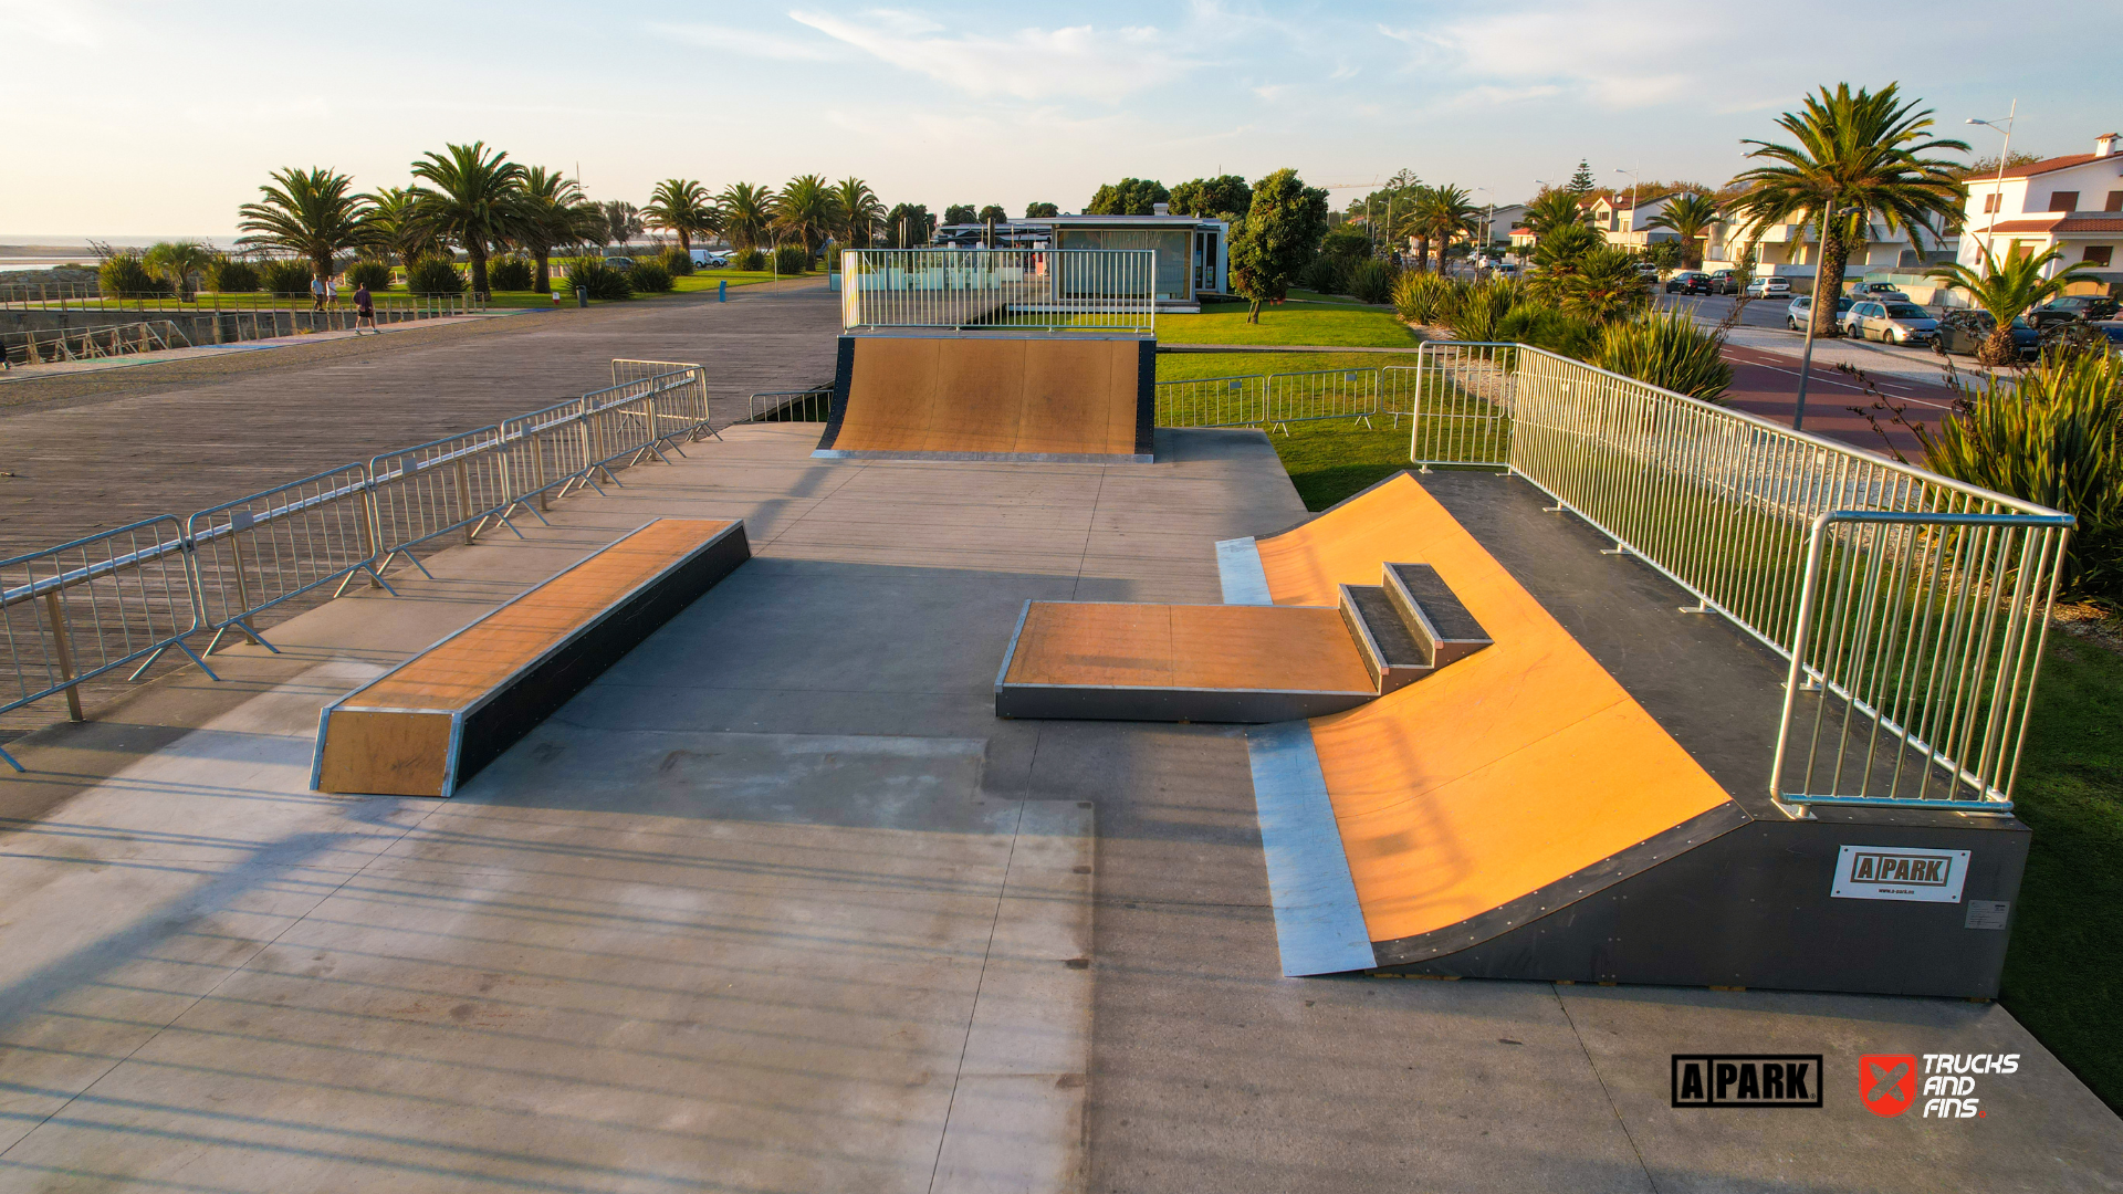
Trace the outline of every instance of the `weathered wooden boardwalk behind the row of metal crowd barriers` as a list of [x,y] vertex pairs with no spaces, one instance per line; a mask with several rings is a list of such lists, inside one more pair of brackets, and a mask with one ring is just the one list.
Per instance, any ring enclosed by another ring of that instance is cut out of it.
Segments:
[[[372,455],[611,385],[611,359],[707,368],[715,425],[747,395],[832,380],[836,295],[745,287],[0,385],[0,559],[157,514],[189,516]],[[314,601],[327,593],[314,593]],[[265,620],[314,601],[291,601]],[[204,646],[204,639],[202,639]],[[0,661],[4,663],[4,661]],[[166,669],[172,663],[161,663]],[[83,686],[96,705],[121,673]],[[66,716],[0,716],[0,741]]]

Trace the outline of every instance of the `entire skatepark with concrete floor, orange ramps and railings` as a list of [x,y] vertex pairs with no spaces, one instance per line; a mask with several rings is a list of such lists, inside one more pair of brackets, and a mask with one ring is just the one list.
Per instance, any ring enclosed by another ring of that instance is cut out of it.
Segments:
[[[1259,425],[1159,425],[1146,334],[834,297],[775,300],[836,344],[824,423],[631,344],[669,368],[624,397],[378,455],[350,508],[418,527],[208,612],[217,678],[8,744],[0,1188],[2117,1183],[1974,916],[2053,518],[1904,533],[1745,423],[1688,476],[1775,499],[1684,516],[1531,357],[1512,457],[1310,514]],[[1471,419],[1499,361],[1418,393]],[[459,459],[512,489],[420,489]],[[193,557],[255,580],[255,525],[340,501],[295,493]],[[1779,518],[1802,574],[1703,550]],[[1970,656],[1989,697],[1911,697]],[[1834,894],[1851,848],[1964,852],[1955,899]],[[1675,1107],[1675,1054],[1819,1054],[1824,1098]],[[2019,1069],[1881,1118],[1866,1054]]]

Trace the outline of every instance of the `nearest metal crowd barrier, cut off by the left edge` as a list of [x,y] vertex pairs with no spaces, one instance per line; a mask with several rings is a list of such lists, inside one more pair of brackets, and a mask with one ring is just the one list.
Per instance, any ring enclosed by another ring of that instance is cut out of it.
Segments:
[[[140,676],[172,646],[206,669],[185,644],[200,629],[187,555],[183,525],[163,514],[0,561],[0,712],[66,693],[81,720],[83,680],[134,661]],[[21,771],[6,750],[0,758]]]

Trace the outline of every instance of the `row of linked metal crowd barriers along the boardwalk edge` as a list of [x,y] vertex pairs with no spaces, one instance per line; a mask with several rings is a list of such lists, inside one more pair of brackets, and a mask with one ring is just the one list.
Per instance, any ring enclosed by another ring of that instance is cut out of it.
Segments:
[[[0,714],[64,693],[81,720],[85,680],[136,661],[138,678],[172,646],[204,669],[202,654],[229,631],[276,650],[257,625],[274,605],[327,584],[340,595],[357,576],[389,591],[395,557],[427,572],[414,555],[422,544],[456,531],[473,542],[495,525],[514,531],[518,510],[543,521],[554,495],[599,489],[599,476],[616,482],[618,470],[664,459],[662,446],[713,433],[701,365],[614,361],[614,376],[620,385],[580,399],[380,453],[185,523],[161,514],[0,561]],[[195,652],[185,639],[202,629],[214,637]]]

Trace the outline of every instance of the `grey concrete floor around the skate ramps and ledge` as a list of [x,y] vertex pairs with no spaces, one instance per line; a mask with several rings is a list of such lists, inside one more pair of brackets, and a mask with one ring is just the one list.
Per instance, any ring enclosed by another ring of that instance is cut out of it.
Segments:
[[[1240,733],[994,716],[1025,599],[1216,601],[1212,540],[1304,518],[1265,438],[813,442],[688,446],[13,741],[0,1190],[2123,1188],[1996,1005],[1278,977]],[[325,701],[656,514],[756,559],[459,799],[306,790]],[[1824,1054],[1826,1107],[1671,1109],[1677,1052]],[[2021,1064],[1883,1120],[1875,1052]]]

